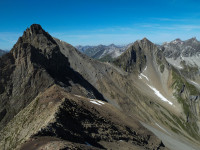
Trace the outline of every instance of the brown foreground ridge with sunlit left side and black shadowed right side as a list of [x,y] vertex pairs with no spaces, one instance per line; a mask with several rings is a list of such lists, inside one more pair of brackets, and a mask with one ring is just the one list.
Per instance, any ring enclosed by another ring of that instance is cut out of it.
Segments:
[[[99,149],[109,149],[109,144],[118,144],[115,149],[126,148],[127,145],[139,149],[165,148],[161,140],[138,121],[112,105],[69,94],[58,86],[52,86],[37,96],[0,133],[4,136],[0,138],[0,146],[5,149],[18,149],[23,143],[22,149],[27,145],[34,147],[39,143],[34,141],[37,138],[47,138],[47,143],[57,138],[74,143],[75,147],[85,144]],[[44,140],[40,146],[47,143]]]

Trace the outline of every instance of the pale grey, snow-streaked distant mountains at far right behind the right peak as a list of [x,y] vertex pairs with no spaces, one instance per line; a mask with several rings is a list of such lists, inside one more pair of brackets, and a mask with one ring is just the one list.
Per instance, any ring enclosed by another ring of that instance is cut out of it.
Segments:
[[200,41],[175,39],[160,46],[166,60],[189,78],[200,76]]

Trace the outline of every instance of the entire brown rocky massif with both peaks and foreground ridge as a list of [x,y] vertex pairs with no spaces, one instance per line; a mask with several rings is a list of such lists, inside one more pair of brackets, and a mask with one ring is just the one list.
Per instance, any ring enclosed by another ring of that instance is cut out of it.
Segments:
[[31,25],[0,58],[0,150],[198,150],[198,81],[168,59],[183,43],[144,38],[108,63]]

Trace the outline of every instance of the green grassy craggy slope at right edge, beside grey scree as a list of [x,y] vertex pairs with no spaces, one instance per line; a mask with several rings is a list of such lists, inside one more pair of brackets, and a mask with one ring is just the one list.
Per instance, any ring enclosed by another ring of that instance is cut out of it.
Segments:
[[193,138],[199,138],[199,127],[197,121],[199,118],[199,96],[198,89],[188,83],[178,71],[172,69],[172,88],[174,89],[174,96],[182,105],[186,118],[178,118],[173,115],[176,123],[179,124],[184,131],[186,131]]

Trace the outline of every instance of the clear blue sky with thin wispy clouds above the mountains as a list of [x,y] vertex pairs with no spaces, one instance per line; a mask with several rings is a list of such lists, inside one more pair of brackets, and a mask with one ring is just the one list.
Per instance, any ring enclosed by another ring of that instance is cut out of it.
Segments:
[[0,49],[33,23],[72,45],[200,39],[199,0],[0,0]]

